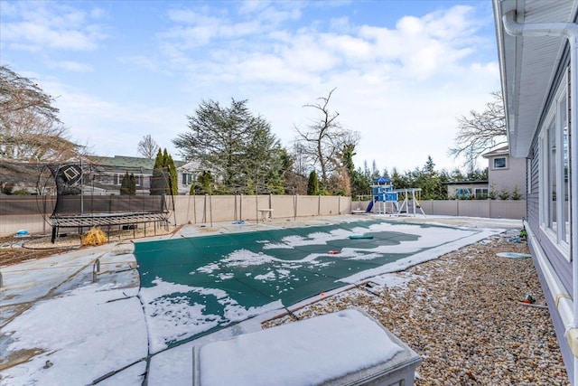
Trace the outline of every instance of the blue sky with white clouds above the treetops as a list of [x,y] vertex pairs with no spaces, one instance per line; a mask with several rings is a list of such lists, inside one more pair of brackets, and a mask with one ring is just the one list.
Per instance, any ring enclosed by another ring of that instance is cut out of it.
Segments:
[[[0,62],[55,98],[70,138],[138,156],[150,135],[175,159],[203,101],[247,99],[281,144],[327,97],[359,132],[356,167],[461,167],[457,119],[499,90],[491,2],[5,1]],[[485,167],[483,162],[480,167]]]

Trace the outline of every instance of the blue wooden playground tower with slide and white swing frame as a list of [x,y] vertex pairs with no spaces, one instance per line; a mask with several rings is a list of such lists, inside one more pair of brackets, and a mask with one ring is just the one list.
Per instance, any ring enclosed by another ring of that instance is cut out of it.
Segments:
[[419,211],[425,215],[419,203],[421,188],[394,189],[391,180],[386,177],[376,178],[370,187],[371,201],[366,212],[415,216]]

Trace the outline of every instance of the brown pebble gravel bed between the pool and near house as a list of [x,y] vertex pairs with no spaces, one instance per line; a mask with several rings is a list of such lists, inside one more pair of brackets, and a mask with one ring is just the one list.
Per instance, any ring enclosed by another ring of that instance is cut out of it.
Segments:
[[532,260],[496,256],[528,253],[514,240],[482,240],[394,274],[401,285],[359,287],[265,326],[356,306],[422,356],[417,386],[569,385]]

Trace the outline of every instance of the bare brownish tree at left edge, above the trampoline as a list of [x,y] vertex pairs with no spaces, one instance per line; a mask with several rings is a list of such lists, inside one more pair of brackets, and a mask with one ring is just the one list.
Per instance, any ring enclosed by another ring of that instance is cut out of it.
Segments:
[[83,150],[70,141],[53,101],[38,84],[0,65],[0,159],[54,163]]

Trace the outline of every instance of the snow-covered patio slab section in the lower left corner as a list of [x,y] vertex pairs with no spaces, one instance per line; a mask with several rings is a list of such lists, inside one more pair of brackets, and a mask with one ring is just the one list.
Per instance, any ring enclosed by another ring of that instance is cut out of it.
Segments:
[[9,337],[6,350],[39,354],[3,370],[2,384],[87,384],[145,358],[143,308],[135,294],[124,292],[90,284],[42,300],[14,318],[0,330]]

